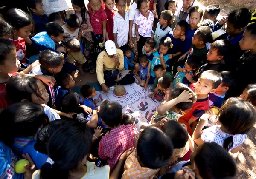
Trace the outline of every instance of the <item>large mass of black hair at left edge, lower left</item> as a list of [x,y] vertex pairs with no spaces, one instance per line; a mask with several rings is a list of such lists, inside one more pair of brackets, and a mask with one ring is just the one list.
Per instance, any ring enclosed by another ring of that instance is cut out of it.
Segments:
[[[15,137],[35,136],[42,125],[49,123],[44,108],[33,102],[18,102],[0,113],[0,140],[11,146]],[[12,131],[6,135],[6,131]]]

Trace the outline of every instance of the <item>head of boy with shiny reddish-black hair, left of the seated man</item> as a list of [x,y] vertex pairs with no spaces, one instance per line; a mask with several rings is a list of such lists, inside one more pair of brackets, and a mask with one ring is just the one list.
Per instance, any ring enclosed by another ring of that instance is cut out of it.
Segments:
[[41,67],[51,73],[59,73],[64,65],[63,56],[51,50],[41,51],[38,60]]

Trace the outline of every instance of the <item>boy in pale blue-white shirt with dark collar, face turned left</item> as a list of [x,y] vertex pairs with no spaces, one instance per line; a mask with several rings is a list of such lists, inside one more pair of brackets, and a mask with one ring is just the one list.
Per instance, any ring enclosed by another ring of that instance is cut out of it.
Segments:
[[161,17],[159,19],[159,23],[157,23],[157,27],[155,31],[154,30],[152,31],[152,35],[151,35],[151,38],[152,39],[154,38],[155,42],[157,43],[156,46],[154,47],[153,52],[158,50],[159,42],[161,38],[165,37],[166,34],[169,33],[169,31],[172,31],[172,29],[168,26],[171,19],[172,19],[172,11],[169,11],[169,10],[162,11]]

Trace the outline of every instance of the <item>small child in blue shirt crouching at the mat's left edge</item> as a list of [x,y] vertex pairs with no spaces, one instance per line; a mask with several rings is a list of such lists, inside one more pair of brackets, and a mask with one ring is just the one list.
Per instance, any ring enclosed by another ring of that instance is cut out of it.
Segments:
[[96,107],[94,104],[98,103],[99,100],[93,99],[93,97],[96,96],[97,92],[95,91],[95,88],[93,85],[83,85],[80,89],[81,93],[81,104],[86,105],[92,110],[94,110]]

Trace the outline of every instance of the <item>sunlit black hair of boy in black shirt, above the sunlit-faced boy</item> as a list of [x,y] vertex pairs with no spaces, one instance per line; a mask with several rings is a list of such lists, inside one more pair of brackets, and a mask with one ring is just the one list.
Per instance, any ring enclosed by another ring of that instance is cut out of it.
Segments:
[[211,44],[211,48],[217,50],[217,54],[223,56],[223,59],[227,57],[232,51],[232,43],[230,40],[216,40]]

